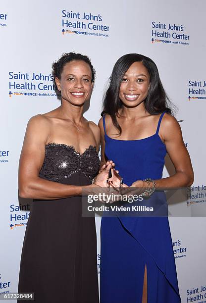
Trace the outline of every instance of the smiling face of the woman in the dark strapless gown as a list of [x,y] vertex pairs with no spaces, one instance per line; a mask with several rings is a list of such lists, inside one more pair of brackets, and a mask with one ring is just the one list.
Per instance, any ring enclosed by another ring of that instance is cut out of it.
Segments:
[[75,60],[64,65],[61,79],[55,78],[56,86],[61,91],[62,101],[73,105],[83,105],[92,94],[92,72],[89,64]]

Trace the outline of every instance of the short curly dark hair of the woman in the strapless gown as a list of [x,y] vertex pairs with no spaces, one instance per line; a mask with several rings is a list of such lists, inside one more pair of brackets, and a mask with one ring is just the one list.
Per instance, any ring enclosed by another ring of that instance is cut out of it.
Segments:
[[82,55],[81,53],[76,53],[76,52],[65,52],[62,54],[60,59],[57,61],[54,61],[52,64],[52,75],[53,75],[53,83],[55,86],[55,90],[58,91],[56,83],[55,83],[55,78],[57,77],[58,79],[61,79],[61,73],[64,68],[64,65],[68,62],[71,61],[84,61],[87,64],[89,64],[92,72],[92,82],[95,82],[95,77],[96,77],[96,71],[92,65],[92,62],[90,61],[89,57],[86,55]]

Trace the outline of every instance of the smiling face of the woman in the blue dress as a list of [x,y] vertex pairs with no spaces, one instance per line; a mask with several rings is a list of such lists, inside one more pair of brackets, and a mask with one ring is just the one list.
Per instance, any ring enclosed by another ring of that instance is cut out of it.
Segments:
[[135,107],[142,103],[148,95],[150,75],[142,62],[134,62],[124,74],[119,98],[124,105]]

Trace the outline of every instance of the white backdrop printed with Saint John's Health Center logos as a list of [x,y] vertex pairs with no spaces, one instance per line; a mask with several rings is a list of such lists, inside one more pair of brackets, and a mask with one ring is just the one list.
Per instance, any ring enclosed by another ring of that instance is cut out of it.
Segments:
[[[19,199],[17,191],[26,124],[31,116],[59,106],[51,63],[63,52],[87,54],[97,70],[85,113],[96,123],[115,61],[125,53],[137,52],[156,62],[164,88],[179,108],[176,117],[183,120],[184,142],[195,171],[194,196],[187,207],[193,211],[198,204],[206,204],[200,194],[206,185],[205,11],[204,0],[0,3],[0,293],[17,291],[29,217],[29,201]],[[206,219],[172,217],[170,227],[182,302],[206,302]],[[99,230],[97,218],[98,271]]]

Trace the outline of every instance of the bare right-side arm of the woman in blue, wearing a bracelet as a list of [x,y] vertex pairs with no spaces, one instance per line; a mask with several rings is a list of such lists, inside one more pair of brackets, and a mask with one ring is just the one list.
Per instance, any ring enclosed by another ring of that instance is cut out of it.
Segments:
[[[166,146],[167,153],[174,164],[175,174],[173,176],[154,180],[156,188],[180,188],[193,184],[194,174],[190,155],[182,138],[181,128],[177,120],[169,114],[164,114],[159,136]],[[150,177],[150,176],[148,176]],[[152,186],[151,184],[150,186]],[[148,187],[147,183],[137,181],[132,184],[135,187]]]

